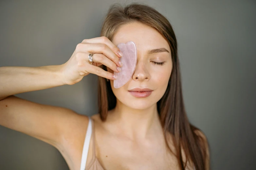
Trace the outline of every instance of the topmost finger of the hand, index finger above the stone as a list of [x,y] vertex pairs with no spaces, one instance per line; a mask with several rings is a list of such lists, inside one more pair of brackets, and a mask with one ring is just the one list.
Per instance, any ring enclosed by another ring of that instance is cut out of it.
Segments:
[[120,49],[117,46],[115,46],[106,36],[84,39],[82,43],[106,44],[119,58],[122,57],[119,54],[119,52],[121,52]]

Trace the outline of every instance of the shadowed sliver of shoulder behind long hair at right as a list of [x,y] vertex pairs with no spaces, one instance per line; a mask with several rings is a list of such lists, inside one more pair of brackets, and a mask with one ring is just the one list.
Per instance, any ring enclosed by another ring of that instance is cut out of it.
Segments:
[[206,170],[210,170],[210,148],[209,142],[206,135],[199,129],[194,130],[194,133],[197,136],[197,142],[200,146],[203,158],[205,160]]

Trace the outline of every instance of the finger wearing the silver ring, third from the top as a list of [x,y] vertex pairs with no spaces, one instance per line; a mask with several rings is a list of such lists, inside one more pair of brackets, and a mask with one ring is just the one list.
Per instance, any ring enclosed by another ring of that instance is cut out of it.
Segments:
[[[89,55],[89,53],[83,53],[84,55]],[[108,57],[106,57],[103,54],[94,53],[93,54],[93,62],[95,63],[101,63],[103,65],[106,65],[111,70],[119,73],[121,71],[121,68],[118,67],[113,61],[111,61]]]

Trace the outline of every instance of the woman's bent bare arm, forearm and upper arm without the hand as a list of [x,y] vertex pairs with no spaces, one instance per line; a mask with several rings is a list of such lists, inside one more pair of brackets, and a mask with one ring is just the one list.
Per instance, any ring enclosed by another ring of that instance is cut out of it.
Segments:
[[28,101],[13,94],[63,85],[60,65],[0,67],[0,125],[65,151],[69,138],[84,130],[88,118],[73,110]]

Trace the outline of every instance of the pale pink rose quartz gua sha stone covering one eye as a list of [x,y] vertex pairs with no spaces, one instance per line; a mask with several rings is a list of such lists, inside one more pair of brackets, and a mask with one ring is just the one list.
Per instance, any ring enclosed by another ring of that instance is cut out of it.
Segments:
[[117,47],[123,53],[123,57],[120,58],[123,66],[121,67],[121,72],[114,72],[114,75],[117,75],[117,79],[114,80],[114,88],[116,89],[128,82],[137,64],[137,48],[134,42],[128,41],[126,44],[120,43]]

